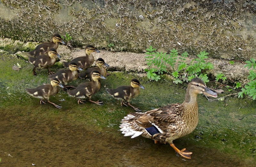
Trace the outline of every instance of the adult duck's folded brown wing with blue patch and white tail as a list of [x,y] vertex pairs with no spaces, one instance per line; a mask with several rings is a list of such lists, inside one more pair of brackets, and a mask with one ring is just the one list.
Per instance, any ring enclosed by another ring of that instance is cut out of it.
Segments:
[[142,134],[144,137],[164,141],[169,135],[177,134],[183,123],[177,112],[179,107],[180,104],[173,104],[146,113],[129,114],[121,121],[121,131],[124,136],[132,138]]

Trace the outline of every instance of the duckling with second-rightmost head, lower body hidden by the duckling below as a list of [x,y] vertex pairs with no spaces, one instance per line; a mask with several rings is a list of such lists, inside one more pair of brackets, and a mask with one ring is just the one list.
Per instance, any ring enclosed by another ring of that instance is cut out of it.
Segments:
[[79,73],[78,77],[81,78],[81,79],[87,79],[88,78],[88,79],[92,80],[91,73],[92,73],[92,71],[95,71],[95,70],[100,71],[100,75],[102,75],[102,76],[107,75],[107,70],[102,66],[109,67],[109,65],[107,63],[105,63],[105,61],[102,58],[99,58],[99,59],[96,60],[96,66],[97,67],[91,67],[89,69],[86,69],[86,71],[83,72],[83,73]]

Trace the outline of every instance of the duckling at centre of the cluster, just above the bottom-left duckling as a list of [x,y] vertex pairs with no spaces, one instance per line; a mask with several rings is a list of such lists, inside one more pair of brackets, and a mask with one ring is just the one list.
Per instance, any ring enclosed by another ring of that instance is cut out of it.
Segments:
[[69,64],[68,69],[61,69],[56,72],[56,74],[49,75],[50,78],[56,77],[59,79],[60,83],[67,88],[76,88],[75,86],[67,86],[68,82],[74,81],[78,77],[78,72],[82,71],[83,69],[77,67],[76,63],[72,62]]

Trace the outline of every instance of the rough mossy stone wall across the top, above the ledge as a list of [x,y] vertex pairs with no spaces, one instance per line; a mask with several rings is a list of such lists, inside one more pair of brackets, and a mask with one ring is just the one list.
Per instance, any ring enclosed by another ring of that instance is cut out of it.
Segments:
[[213,58],[255,58],[256,2],[244,0],[1,0],[0,36],[48,41],[54,33],[73,45],[113,51],[176,48]]

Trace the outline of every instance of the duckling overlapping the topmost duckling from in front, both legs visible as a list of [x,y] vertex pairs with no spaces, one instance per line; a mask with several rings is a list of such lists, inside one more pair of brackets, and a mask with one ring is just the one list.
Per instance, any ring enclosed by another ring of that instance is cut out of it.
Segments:
[[[48,56],[47,56],[48,55]],[[49,71],[49,74],[55,74],[52,72],[49,67],[53,66],[58,58],[61,58],[57,53],[56,49],[51,48],[47,55],[39,55],[36,57],[28,57],[28,61],[31,62],[35,67],[33,68],[33,75],[36,76],[36,68],[46,68]]]

